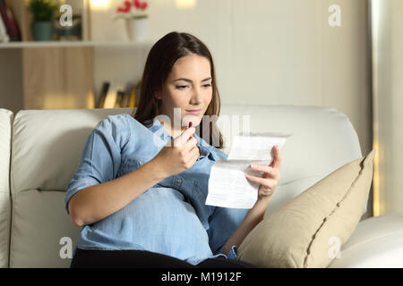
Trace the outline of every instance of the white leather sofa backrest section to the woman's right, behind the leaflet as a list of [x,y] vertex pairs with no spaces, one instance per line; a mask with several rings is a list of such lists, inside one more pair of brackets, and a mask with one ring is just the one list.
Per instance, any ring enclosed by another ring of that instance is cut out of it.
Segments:
[[[224,105],[220,114],[250,116],[252,132],[286,132],[293,135],[281,150],[281,179],[266,215],[274,212],[330,172],[362,156],[356,130],[345,114],[334,108],[293,105]],[[236,120],[235,120],[236,121]],[[242,122],[242,119],[240,119]],[[241,130],[245,130],[241,128]],[[223,129],[228,140],[236,134]],[[366,211],[366,207],[364,212]],[[364,214],[364,213],[363,213]]]

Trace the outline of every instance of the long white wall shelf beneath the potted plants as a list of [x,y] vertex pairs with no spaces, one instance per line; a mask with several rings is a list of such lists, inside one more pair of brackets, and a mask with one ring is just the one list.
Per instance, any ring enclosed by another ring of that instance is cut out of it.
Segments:
[[2,48],[29,48],[29,47],[69,47],[69,46],[93,46],[93,47],[131,47],[149,46],[151,42],[135,41],[31,41],[0,43]]

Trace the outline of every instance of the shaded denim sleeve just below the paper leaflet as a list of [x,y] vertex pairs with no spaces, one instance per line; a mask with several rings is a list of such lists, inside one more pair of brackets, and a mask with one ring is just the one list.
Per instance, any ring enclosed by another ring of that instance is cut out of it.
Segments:
[[[207,231],[210,248],[214,255],[224,254],[224,245],[242,223],[248,211],[248,209],[243,208],[216,206],[213,214],[210,215],[210,228]],[[236,259],[236,247],[231,246],[227,254],[228,258]]]

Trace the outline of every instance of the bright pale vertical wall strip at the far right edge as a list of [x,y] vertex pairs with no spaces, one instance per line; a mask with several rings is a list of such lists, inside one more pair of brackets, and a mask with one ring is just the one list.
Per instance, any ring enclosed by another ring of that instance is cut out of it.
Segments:
[[373,0],[374,215],[403,212],[403,2]]

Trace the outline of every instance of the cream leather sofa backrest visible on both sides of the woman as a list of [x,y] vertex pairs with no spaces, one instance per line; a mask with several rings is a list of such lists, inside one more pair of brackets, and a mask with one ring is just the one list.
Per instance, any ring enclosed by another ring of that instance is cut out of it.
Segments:
[[[15,115],[11,159],[10,267],[68,267],[80,228],[64,210],[65,187],[76,171],[90,131],[109,114],[132,114],[132,108],[27,110]],[[282,105],[223,105],[223,115],[250,131],[293,133],[281,150],[281,180],[267,214],[341,165],[362,156],[347,116],[333,108]],[[237,117],[238,116],[238,117]],[[246,119],[247,121],[247,119]],[[245,122],[245,121],[244,121]],[[234,124],[235,126],[236,124]],[[222,130],[228,152],[231,136],[248,130]],[[61,252],[62,255],[61,255]]]

